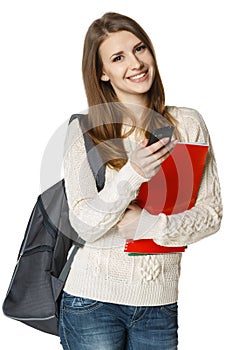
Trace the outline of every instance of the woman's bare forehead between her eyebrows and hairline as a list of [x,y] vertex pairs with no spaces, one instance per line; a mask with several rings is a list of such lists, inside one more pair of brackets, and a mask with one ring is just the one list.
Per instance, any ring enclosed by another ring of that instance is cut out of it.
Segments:
[[131,32],[122,30],[108,33],[99,48],[101,55],[113,55],[115,52],[131,50],[141,40]]

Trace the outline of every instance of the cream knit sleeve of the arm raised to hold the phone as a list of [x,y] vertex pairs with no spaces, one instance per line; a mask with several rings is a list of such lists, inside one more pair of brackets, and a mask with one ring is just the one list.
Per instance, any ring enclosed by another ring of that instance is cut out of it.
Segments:
[[70,223],[86,242],[96,241],[117,224],[146,181],[127,162],[98,192],[78,119],[68,127],[63,164]]

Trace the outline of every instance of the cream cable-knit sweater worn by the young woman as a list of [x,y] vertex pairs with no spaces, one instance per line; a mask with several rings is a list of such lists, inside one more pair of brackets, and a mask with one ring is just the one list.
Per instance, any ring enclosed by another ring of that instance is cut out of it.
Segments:
[[[200,114],[188,108],[170,107],[178,121],[180,141],[206,142],[209,153],[195,206],[180,214],[151,215],[143,210],[137,239],[153,238],[160,245],[189,245],[216,232],[220,227],[222,203],[220,185],[209,134]],[[135,148],[134,134],[125,148]],[[78,119],[67,132],[64,177],[71,225],[86,241],[79,249],[64,290],[99,301],[154,306],[177,301],[182,254],[128,256],[125,240],[116,224],[146,179],[130,162],[120,170],[106,168],[104,188],[98,192],[86,158]]]

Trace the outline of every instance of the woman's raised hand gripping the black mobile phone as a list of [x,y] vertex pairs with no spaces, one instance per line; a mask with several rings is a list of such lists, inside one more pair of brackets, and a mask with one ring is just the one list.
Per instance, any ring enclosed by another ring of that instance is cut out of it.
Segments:
[[169,138],[146,147],[148,140],[141,142],[130,156],[130,163],[134,170],[141,176],[151,179],[159,171],[162,162],[170,155],[176,140],[169,142]]

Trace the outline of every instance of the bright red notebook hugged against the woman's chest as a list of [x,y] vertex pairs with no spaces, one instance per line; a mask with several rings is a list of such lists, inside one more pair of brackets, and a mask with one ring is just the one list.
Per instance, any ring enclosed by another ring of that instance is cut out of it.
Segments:
[[[177,214],[194,206],[206,162],[208,145],[178,143],[159,172],[144,182],[136,203],[150,214]],[[128,253],[161,254],[183,252],[185,247],[163,247],[153,239],[127,240]]]

